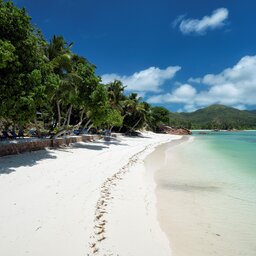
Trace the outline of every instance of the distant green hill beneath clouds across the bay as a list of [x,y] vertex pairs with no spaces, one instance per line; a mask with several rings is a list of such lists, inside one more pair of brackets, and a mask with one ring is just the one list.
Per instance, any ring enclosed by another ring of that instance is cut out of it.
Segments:
[[170,113],[170,125],[189,129],[256,129],[256,111],[212,105],[191,113]]

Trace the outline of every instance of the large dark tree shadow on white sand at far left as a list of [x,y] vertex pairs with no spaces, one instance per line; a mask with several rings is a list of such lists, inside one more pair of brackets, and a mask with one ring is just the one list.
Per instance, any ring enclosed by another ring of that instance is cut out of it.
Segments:
[[0,158],[0,175],[15,172],[18,167],[31,167],[43,159],[56,159],[53,151],[38,150],[22,153],[20,155],[9,155]]

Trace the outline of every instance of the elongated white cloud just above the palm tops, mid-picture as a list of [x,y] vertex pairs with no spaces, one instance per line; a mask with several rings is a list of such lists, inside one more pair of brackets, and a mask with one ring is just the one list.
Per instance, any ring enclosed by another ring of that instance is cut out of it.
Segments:
[[120,76],[118,74],[102,75],[102,82],[109,83],[114,80],[120,80],[127,86],[127,90],[133,91],[151,91],[158,92],[160,87],[168,80],[171,80],[181,69],[179,66],[169,66],[166,69],[150,67],[130,76]]

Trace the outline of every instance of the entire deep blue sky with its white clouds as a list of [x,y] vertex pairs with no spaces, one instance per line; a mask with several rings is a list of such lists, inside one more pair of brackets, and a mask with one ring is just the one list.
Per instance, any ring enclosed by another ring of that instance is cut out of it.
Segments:
[[254,0],[16,0],[46,39],[74,42],[104,82],[152,104],[256,109]]

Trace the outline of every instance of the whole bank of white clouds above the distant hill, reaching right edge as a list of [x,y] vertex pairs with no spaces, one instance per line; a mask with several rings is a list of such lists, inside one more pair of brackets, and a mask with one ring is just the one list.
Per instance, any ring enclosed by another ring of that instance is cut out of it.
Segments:
[[232,68],[219,74],[207,74],[193,80],[201,81],[208,87],[196,92],[195,87],[185,84],[171,93],[156,95],[148,100],[151,103],[184,103],[184,111],[211,104],[224,104],[239,109],[256,106],[256,55],[243,57]]

